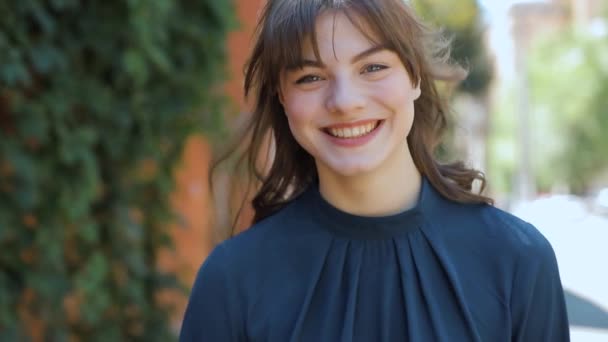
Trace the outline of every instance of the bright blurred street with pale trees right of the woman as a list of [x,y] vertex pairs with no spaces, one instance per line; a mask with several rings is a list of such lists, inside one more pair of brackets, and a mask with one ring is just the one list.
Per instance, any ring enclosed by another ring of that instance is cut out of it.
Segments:
[[552,243],[572,341],[608,341],[606,2],[481,5],[497,72],[486,170],[510,184],[503,208]]

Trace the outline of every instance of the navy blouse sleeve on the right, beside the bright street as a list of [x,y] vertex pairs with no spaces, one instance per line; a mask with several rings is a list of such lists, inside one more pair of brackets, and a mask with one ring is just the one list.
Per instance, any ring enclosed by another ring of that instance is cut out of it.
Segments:
[[542,236],[524,248],[511,294],[513,341],[570,341],[555,252]]

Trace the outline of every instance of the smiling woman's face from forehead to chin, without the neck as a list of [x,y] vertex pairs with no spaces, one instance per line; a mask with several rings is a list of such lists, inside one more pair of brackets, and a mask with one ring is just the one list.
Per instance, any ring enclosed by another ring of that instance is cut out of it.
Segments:
[[308,41],[304,65],[283,73],[279,96],[319,177],[356,176],[410,160],[406,138],[420,89],[399,56],[370,42],[340,12],[322,14],[316,34],[321,60]]

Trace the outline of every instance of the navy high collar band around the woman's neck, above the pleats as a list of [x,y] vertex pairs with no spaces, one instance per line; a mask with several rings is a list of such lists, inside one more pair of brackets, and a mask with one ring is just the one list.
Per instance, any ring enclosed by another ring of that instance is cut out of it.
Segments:
[[302,200],[323,229],[341,237],[374,240],[396,237],[420,229],[424,217],[432,215],[433,207],[440,201],[440,194],[426,177],[422,177],[416,205],[386,216],[360,216],[340,210],[323,198],[318,183],[311,184]]

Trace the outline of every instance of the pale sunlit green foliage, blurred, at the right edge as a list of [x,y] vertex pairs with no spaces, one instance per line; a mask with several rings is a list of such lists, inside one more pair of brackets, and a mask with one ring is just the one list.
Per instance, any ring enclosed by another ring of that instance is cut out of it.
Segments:
[[608,39],[570,29],[545,37],[530,56],[532,115],[541,183],[575,192],[608,169]]

